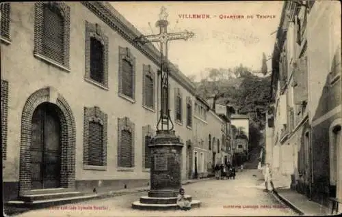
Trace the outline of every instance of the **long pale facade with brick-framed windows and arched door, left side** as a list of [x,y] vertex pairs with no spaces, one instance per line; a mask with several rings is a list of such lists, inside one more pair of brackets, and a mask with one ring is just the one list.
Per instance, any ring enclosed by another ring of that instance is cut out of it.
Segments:
[[[101,192],[149,184],[148,143],[161,100],[159,52],[134,42],[138,35],[109,3],[1,3],[5,201],[47,188]],[[198,146],[198,99],[172,63],[168,91],[187,179],[187,159]],[[220,118],[208,123],[198,132],[222,126]],[[199,143],[203,156],[206,138]]]

